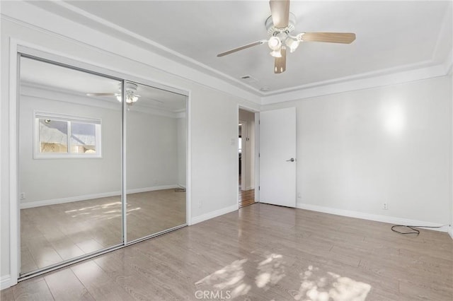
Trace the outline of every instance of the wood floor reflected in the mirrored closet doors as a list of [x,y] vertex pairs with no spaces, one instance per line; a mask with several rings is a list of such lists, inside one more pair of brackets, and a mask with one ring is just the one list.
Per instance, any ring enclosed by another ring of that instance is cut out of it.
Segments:
[[[21,273],[120,244],[121,198],[110,196],[21,210]],[[185,193],[127,195],[127,240],[185,223]]]

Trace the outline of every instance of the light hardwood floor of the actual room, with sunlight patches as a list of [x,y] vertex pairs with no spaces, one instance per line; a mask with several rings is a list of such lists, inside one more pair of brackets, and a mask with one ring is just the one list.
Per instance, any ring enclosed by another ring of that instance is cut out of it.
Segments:
[[1,300],[197,300],[206,291],[205,300],[451,301],[451,237],[390,228],[255,203],[23,281]]

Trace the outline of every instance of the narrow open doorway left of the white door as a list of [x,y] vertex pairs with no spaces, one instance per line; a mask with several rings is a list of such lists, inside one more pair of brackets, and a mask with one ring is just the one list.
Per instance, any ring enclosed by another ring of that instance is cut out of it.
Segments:
[[238,123],[239,208],[255,203],[255,113],[239,108]]

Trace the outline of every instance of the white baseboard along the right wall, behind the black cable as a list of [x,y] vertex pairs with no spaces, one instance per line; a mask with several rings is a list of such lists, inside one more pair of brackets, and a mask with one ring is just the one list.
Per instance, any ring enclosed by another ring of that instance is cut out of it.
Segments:
[[[427,227],[442,227],[442,228],[426,228],[428,230],[435,230],[441,232],[447,232],[448,225],[442,225],[438,223],[425,222],[423,220],[409,220],[406,218],[395,218],[393,216],[379,216],[377,214],[363,213],[359,211],[349,211],[338,208],[323,207],[311,205],[308,203],[297,203],[297,208],[306,209],[310,211],[318,211],[323,213],[331,213],[337,216],[348,216],[350,218],[362,218],[363,220],[375,220],[382,223],[390,223],[394,225],[425,225]],[[420,227],[421,228],[421,227]]]

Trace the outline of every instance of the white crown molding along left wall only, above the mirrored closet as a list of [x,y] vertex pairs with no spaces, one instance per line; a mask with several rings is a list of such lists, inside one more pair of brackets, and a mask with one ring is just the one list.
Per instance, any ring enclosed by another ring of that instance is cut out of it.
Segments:
[[[52,1],[52,3],[59,4],[59,1]],[[2,3],[0,13],[1,19],[24,26],[25,28],[37,30],[40,33],[69,41],[74,45],[92,49],[96,52],[103,51],[124,57],[125,59],[136,61],[139,64],[147,65],[151,69],[176,76],[184,81],[211,88],[226,95],[233,95],[243,102],[260,105],[260,96],[256,95],[255,91],[251,91],[250,87],[240,87],[237,83],[231,83],[231,81],[221,78],[219,75],[214,76],[210,74],[212,72],[207,71],[207,69],[200,71],[201,67],[195,68],[194,66],[190,66],[190,64],[184,64],[181,62],[181,59],[169,59],[157,51],[154,52],[154,49],[157,48],[152,45],[144,47],[143,41],[141,47],[130,42],[132,40],[131,38],[122,39],[122,37],[125,37],[125,34],[118,31],[115,35],[96,30],[84,23],[78,23],[59,16],[52,11],[40,8],[40,6],[35,6],[33,5],[33,1],[30,3],[25,1],[6,1],[5,4]],[[68,28],[71,28],[71,30]],[[96,30],[96,35],[93,35],[93,30]],[[102,38],[100,39],[100,37]],[[133,40],[137,41],[136,38]],[[134,52],[130,51],[131,46],[134,47]],[[128,74],[127,71],[122,71],[122,73]],[[160,83],[157,78],[147,79]],[[168,83],[162,84],[168,85]]]

